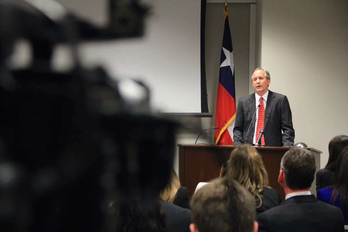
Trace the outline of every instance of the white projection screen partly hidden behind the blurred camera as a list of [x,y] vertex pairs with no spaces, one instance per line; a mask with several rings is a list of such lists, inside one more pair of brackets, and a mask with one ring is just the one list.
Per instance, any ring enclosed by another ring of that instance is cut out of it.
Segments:
[[[59,1],[85,20],[97,23],[109,18],[109,0]],[[81,63],[85,66],[101,64],[113,78],[142,80],[151,90],[153,109],[167,113],[200,113],[201,0],[140,2],[150,7],[145,17],[144,35],[81,43]]]

